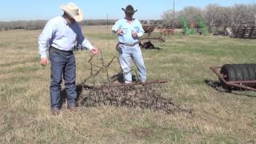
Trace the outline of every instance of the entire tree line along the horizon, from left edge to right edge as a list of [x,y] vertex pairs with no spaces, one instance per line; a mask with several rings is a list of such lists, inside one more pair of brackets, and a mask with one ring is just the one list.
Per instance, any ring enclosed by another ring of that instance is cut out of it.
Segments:
[[[160,20],[141,20],[142,25],[154,24],[158,27],[182,28],[181,17],[184,16],[188,23],[196,22],[196,16],[200,15],[206,26],[234,26],[236,24],[254,22],[256,23],[256,4],[236,4],[234,6],[219,6],[209,4],[204,9],[195,6],[186,6],[183,10],[174,12],[166,10]],[[117,19],[87,19],[80,23],[82,26],[113,25]],[[0,22],[1,30],[41,30],[46,25],[46,20],[34,21],[11,21]]]

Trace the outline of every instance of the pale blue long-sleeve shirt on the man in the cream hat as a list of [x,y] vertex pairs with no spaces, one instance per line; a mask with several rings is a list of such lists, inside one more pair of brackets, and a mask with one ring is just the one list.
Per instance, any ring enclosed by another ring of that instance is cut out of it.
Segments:
[[73,50],[74,46],[80,44],[89,50],[93,49],[91,43],[84,38],[81,27],[77,22],[71,26],[62,16],[50,19],[38,38],[38,52],[41,58],[47,58],[46,50],[53,46],[59,50]]

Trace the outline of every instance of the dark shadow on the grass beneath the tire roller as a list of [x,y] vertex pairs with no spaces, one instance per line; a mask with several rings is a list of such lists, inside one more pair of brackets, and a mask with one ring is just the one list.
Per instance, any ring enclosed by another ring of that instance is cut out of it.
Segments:
[[226,90],[222,86],[222,82],[214,81],[210,79],[205,79],[206,85],[212,87],[214,90],[217,90],[221,93],[230,93],[230,94],[237,94],[237,95],[244,95],[250,98],[256,98],[256,91],[254,90]]

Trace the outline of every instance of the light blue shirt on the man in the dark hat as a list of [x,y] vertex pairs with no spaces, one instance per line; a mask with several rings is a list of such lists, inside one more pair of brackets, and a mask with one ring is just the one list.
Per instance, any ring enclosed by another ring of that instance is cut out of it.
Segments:
[[[114,26],[112,26],[112,31],[117,32],[119,29],[123,31],[123,34],[118,35],[118,42],[126,44],[134,44],[138,42],[138,38],[142,37],[145,32],[141,22],[137,19],[133,19],[131,23],[128,23],[126,18],[119,19],[115,22]],[[132,32],[137,32],[138,38],[133,38]]]

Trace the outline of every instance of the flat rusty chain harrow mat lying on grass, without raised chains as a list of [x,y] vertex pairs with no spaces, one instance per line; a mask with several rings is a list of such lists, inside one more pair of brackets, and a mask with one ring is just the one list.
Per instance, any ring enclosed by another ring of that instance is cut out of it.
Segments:
[[172,102],[171,98],[162,98],[162,86],[159,84],[135,85],[135,86],[105,86],[102,89],[86,88],[80,95],[79,103],[82,106],[125,106],[128,108],[142,108],[150,110],[162,110],[166,114],[174,112],[186,112]]

